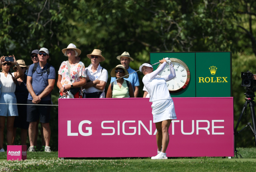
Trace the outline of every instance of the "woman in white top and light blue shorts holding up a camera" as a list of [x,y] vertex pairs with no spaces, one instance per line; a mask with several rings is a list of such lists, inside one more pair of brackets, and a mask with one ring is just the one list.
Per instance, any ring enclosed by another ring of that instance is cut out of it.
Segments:
[[[18,116],[17,109],[17,100],[14,94],[16,83],[18,78],[22,75],[22,69],[20,65],[16,62],[14,56],[9,56],[13,58],[13,62],[5,61],[5,57],[0,58],[0,85],[1,85],[1,94],[0,94],[0,152],[4,152],[3,142],[4,142],[4,125],[5,119],[7,117],[7,144],[12,145],[13,140],[13,124],[15,116]],[[17,66],[18,72],[11,73],[10,68],[14,65]]]

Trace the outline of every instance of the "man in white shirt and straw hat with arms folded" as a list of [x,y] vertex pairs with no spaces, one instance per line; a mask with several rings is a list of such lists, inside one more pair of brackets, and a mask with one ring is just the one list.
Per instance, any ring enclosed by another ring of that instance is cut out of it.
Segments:
[[94,49],[92,54],[87,55],[91,59],[92,64],[86,68],[86,85],[84,98],[105,98],[105,86],[108,81],[108,71],[100,66],[105,58],[101,55],[101,51]]

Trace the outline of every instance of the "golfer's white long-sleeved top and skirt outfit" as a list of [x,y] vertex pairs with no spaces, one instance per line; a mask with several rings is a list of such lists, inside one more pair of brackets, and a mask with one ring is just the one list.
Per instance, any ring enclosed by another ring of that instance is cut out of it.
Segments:
[[164,69],[165,65],[166,62],[162,63],[158,69],[150,74],[146,74],[142,79],[144,86],[148,90],[148,94],[150,94],[149,101],[152,102],[151,107],[154,123],[177,119],[174,103],[166,85],[166,81],[172,80],[176,76],[172,63],[170,62],[169,64],[169,75],[158,75]]

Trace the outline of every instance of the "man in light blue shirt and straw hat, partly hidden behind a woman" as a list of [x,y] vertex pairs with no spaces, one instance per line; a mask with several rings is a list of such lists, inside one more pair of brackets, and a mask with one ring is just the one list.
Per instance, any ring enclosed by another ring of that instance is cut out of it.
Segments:
[[[130,57],[130,54],[128,52],[124,52],[121,56],[117,56],[116,58],[117,60],[120,60],[121,64],[125,67],[125,69],[129,72],[129,74],[132,72],[135,72],[135,70],[133,70],[129,66],[130,61],[131,60],[134,61],[134,59]],[[111,77],[110,83],[114,82],[115,79],[116,79],[115,77]],[[139,82],[137,72],[130,74],[129,78],[124,78],[124,79],[130,81],[134,90],[134,97],[138,97],[140,82]]]

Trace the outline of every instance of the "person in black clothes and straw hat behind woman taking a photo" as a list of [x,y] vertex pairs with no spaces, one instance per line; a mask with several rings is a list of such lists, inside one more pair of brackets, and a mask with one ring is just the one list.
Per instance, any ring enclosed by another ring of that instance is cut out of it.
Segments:
[[[27,104],[28,88],[27,88],[27,75],[25,74],[25,71],[28,69],[28,66],[26,66],[24,60],[17,60],[17,62],[22,69],[22,75],[20,76],[20,78],[17,79],[16,89],[14,93],[17,99],[17,104]],[[12,69],[15,72],[19,73],[17,66],[14,66]],[[14,120],[12,144],[14,144],[16,130],[17,128],[20,128],[21,129],[21,133],[20,133],[21,145],[26,145],[27,132],[28,132],[27,130],[29,126],[29,122],[27,122],[27,106],[18,105],[18,114],[19,116],[16,116]]]

